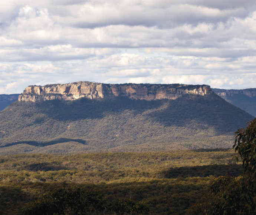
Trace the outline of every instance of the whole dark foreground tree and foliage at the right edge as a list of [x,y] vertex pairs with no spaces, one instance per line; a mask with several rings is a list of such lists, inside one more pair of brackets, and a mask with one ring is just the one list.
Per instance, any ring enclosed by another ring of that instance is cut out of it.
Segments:
[[256,118],[246,129],[239,129],[235,134],[233,149],[242,159],[244,172],[237,178],[221,176],[215,179],[210,186],[209,201],[200,214],[256,214]]

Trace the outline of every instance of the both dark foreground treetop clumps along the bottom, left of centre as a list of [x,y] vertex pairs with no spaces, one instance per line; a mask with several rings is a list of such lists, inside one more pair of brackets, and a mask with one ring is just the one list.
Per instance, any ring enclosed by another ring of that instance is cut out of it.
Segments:
[[[24,215],[91,215],[114,212],[116,215],[147,215],[149,209],[130,198],[106,199],[99,190],[83,186],[64,186],[49,191],[23,209]],[[112,214],[112,213],[111,213]]]

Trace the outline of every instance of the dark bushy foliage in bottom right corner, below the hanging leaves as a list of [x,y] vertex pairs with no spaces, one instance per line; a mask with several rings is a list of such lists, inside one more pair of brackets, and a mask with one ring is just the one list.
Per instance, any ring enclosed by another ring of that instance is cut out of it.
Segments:
[[209,192],[202,214],[256,214],[256,186],[248,175],[240,178],[221,176],[211,182]]

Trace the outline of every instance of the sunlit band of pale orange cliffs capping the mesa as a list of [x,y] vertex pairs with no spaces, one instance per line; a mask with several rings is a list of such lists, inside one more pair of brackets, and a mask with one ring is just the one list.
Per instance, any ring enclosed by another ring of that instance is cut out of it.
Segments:
[[19,101],[74,100],[106,96],[127,96],[134,99],[177,99],[184,94],[206,95],[213,93],[208,85],[161,85],[161,84],[104,84],[96,82],[75,82],[45,86],[29,86],[19,96]]

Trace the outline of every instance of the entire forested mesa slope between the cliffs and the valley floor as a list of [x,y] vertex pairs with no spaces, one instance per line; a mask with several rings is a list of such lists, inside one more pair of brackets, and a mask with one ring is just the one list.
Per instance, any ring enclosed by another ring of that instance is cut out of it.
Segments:
[[212,93],[14,102],[0,112],[1,154],[227,148],[253,116]]

